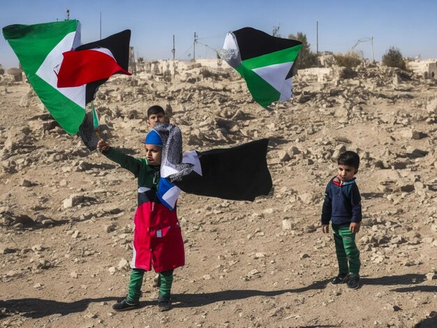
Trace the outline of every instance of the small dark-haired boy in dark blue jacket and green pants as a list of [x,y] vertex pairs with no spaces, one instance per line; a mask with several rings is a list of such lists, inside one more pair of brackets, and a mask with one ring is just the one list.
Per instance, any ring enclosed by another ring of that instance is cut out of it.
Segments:
[[339,262],[339,275],[332,283],[347,283],[348,288],[360,287],[360,251],[355,244],[355,234],[360,231],[362,219],[361,196],[355,183],[360,167],[360,156],[355,151],[345,151],[337,159],[339,171],[326,186],[322,209],[323,232],[329,232],[332,220],[335,251]]

